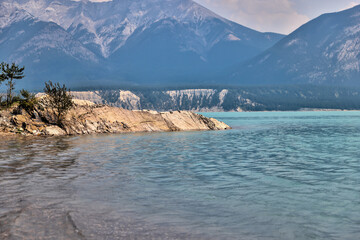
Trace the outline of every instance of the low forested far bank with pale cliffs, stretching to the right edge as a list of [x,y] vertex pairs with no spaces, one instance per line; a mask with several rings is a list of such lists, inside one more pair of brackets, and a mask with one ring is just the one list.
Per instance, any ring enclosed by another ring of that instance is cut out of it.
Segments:
[[75,98],[130,110],[297,111],[360,109],[360,89],[317,85],[75,91]]

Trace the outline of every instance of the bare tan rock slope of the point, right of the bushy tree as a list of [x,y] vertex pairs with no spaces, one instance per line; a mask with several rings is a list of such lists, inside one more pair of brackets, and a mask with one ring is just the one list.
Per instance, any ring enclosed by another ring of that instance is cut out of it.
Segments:
[[76,107],[67,115],[67,134],[224,130],[230,127],[201,115],[176,111],[130,111],[109,106]]

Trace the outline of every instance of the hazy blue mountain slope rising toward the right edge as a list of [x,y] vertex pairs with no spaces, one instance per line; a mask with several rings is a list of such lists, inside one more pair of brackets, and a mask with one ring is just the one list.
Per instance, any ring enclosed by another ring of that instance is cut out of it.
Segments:
[[310,21],[234,72],[236,84],[360,85],[360,6]]

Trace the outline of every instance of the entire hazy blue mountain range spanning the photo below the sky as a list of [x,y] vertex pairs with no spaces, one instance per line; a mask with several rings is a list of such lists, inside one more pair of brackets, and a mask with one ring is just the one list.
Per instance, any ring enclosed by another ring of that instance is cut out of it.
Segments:
[[191,0],[3,0],[0,60],[72,88],[360,85],[360,6],[283,36]]

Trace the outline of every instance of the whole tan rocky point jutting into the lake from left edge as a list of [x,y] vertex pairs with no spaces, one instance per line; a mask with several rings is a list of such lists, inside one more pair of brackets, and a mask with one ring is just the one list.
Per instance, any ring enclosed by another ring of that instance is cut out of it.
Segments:
[[131,111],[74,100],[61,126],[54,114],[37,107],[29,113],[13,107],[0,111],[0,135],[65,136],[100,133],[226,130],[228,125],[188,111]]

